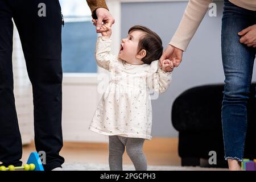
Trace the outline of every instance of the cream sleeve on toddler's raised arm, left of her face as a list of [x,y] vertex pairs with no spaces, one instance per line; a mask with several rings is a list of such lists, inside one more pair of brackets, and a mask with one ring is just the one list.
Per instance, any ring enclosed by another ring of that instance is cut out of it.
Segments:
[[95,58],[99,67],[110,71],[110,65],[117,62],[117,56],[110,53],[111,39],[104,39],[99,36],[96,42]]

